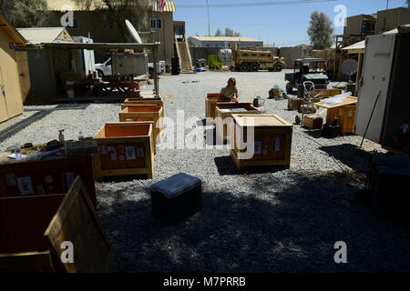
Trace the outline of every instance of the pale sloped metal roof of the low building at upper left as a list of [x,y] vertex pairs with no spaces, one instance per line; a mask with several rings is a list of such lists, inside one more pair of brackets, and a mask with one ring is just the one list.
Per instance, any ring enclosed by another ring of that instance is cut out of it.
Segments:
[[[44,43],[53,43],[58,41],[57,38],[63,32],[66,27],[34,27],[34,28],[17,28],[17,31],[23,35],[33,45],[39,45]],[[66,41],[74,39],[67,33]]]

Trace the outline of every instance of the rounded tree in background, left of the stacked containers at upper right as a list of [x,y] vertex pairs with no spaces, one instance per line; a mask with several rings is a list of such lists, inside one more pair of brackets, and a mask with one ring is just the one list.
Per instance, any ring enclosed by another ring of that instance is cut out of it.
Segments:
[[333,32],[334,28],[329,17],[323,12],[313,11],[307,31],[313,49],[321,50],[331,47],[333,45]]

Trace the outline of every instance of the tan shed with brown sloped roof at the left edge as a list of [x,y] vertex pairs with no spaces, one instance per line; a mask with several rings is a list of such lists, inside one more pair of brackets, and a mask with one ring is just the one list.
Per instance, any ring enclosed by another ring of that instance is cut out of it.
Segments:
[[23,95],[15,46],[26,39],[0,12],[0,122],[23,113]]

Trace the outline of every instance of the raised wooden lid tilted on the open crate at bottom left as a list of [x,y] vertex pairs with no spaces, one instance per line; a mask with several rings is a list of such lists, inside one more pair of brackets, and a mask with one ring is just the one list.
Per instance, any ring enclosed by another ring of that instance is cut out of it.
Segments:
[[112,246],[79,177],[58,208],[45,236],[57,257],[64,251],[63,242],[73,243],[74,263],[64,264],[67,272],[110,271]]

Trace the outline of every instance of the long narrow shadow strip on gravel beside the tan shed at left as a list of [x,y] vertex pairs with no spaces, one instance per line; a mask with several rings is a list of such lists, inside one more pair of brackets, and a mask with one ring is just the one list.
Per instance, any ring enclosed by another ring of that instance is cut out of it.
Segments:
[[88,105],[76,104],[76,105],[56,105],[55,108],[51,109],[25,109],[25,111],[38,111],[34,115],[31,115],[22,121],[17,122],[14,125],[10,125],[4,130],[0,131],[0,142],[4,142],[5,139],[17,134],[21,130],[25,129],[27,126],[34,124],[37,121],[45,118],[56,110],[84,110],[87,109]]

